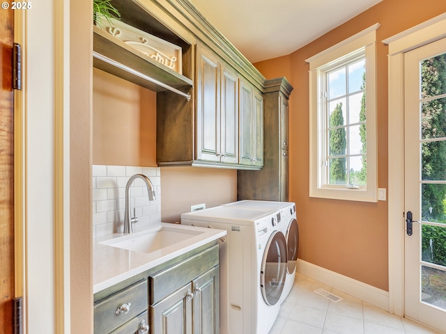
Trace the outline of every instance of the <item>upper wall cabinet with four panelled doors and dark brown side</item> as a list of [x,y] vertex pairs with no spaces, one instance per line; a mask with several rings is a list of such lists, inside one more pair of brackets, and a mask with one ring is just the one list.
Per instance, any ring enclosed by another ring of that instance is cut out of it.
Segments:
[[[261,90],[201,43],[197,45],[196,57],[194,118],[190,113],[164,106],[167,97],[158,102],[157,163],[260,169]],[[171,95],[162,95],[167,94]],[[188,132],[190,125],[194,133]]]

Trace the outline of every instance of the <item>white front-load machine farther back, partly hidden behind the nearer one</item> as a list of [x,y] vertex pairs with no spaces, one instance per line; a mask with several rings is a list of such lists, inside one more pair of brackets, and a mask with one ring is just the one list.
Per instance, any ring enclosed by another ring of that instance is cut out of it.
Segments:
[[269,212],[277,216],[277,227],[285,235],[287,250],[287,270],[284,291],[280,303],[286,299],[295,280],[295,269],[298,261],[299,226],[294,202],[276,202],[271,200],[239,200],[222,205],[236,209],[253,209]]

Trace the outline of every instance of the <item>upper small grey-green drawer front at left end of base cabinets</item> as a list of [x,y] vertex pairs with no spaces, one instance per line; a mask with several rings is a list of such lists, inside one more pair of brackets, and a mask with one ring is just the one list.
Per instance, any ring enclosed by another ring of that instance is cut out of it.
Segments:
[[[118,328],[118,326],[125,324],[125,322],[146,311],[147,296],[147,281],[142,280],[139,283],[131,285],[130,287],[95,303],[94,333],[109,333],[115,328]],[[126,314],[124,312],[118,312],[118,314],[116,314],[116,310],[128,303],[131,305]]]

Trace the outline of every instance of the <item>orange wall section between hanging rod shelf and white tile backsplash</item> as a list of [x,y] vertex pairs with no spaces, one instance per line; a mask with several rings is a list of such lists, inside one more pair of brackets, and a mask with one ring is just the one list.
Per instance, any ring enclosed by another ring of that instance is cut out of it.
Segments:
[[93,68],[93,164],[157,167],[156,93]]

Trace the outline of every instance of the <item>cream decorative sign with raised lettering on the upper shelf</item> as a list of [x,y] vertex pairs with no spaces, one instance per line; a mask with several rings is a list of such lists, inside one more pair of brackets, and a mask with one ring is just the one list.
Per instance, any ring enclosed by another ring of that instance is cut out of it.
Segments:
[[98,26],[110,35],[122,40],[125,44],[130,45],[130,47],[152,58],[154,61],[171,68],[179,74],[183,74],[181,47],[134,28],[117,19],[111,19],[111,21],[112,24],[102,17],[101,23]]

